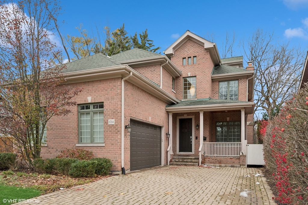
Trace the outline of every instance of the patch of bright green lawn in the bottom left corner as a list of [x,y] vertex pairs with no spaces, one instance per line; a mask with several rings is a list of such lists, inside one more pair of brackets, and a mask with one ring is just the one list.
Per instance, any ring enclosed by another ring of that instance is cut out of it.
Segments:
[[[36,189],[9,187],[2,185],[0,185],[0,193],[0,205],[13,204],[18,202],[27,203],[31,201],[31,198],[41,195],[41,191]],[[37,199],[32,199],[32,202],[38,203],[39,201],[37,201]]]

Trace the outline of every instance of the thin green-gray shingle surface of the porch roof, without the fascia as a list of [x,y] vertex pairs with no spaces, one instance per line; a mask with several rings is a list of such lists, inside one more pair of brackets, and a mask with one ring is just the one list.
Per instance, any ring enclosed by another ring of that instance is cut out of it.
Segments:
[[245,101],[235,101],[235,100],[218,100],[218,99],[198,99],[181,101],[180,103],[167,105],[166,107],[186,107],[186,106],[198,106],[198,105],[219,105],[219,104],[235,104],[235,103],[246,103]]

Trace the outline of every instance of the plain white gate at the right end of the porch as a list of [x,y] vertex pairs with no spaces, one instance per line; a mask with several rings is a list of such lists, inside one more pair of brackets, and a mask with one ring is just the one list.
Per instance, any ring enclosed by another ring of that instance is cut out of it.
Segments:
[[247,144],[247,165],[264,165],[263,144]]

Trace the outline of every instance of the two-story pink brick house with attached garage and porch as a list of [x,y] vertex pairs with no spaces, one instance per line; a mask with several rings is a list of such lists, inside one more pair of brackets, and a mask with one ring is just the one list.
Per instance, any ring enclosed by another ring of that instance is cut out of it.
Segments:
[[82,148],[111,159],[113,173],[187,159],[245,166],[254,67],[242,57],[221,59],[215,43],[186,31],[164,55],[132,49],[66,66],[83,91],[71,114],[48,122],[42,157]]

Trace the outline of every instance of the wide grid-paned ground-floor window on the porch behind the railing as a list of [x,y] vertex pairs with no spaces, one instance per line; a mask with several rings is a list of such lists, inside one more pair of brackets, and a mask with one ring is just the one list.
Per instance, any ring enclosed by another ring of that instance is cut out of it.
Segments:
[[217,122],[216,142],[241,142],[241,122]]

